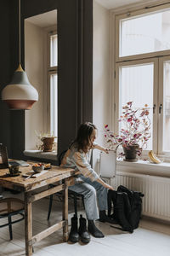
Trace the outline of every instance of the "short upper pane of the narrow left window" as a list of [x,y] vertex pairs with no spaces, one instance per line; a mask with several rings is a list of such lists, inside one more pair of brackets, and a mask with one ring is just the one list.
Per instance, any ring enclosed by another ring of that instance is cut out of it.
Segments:
[[58,64],[57,47],[57,35],[50,36],[50,67]]

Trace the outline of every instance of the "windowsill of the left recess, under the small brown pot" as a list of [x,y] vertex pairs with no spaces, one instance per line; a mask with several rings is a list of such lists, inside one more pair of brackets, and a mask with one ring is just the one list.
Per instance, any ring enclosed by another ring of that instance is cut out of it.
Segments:
[[41,150],[24,150],[24,155],[44,160],[57,160],[57,152],[42,152]]

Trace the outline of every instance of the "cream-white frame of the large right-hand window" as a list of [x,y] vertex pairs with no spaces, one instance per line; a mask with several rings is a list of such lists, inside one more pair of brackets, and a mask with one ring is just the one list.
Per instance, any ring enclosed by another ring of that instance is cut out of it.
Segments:
[[[115,70],[115,75],[112,76],[112,81],[114,81],[114,122],[113,128],[114,131],[118,131],[118,122],[117,119],[119,117],[119,67],[123,66],[131,66],[131,65],[139,65],[144,63],[154,63],[154,95],[153,102],[156,106],[155,113],[153,115],[153,127],[155,128],[153,131],[153,137],[156,139],[153,140],[153,150],[156,154],[163,154],[165,160],[169,157],[170,153],[162,152],[162,143],[163,143],[163,133],[162,133],[162,120],[163,120],[163,111],[161,114],[159,113],[159,106],[162,104],[163,106],[163,90],[161,84],[163,84],[163,61],[170,61],[170,49],[156,51],[141,55],[128,55],[119,57],[119,20],[126,19],[127,17],[133,17],[137,15],[145,15],[148,13],[158,12],[162,9],[170,9],[170,3],[161,4],[160,6],[151,7],[149,9],[128,9],[127,12],[123,11],[121,14],[121,10],[118,10],[118,15],[113,13],[112,24],[115,25],[114,30],[115,34],[112,37],[112,47],[113,47],[113,65]],[[112,69],[113,70],[113,69]],[[146,102],[147,103],[147,102]],[[154,107],[154,106],[153,106]],[[144,154],[147,154],[147,150],[145,150]]]

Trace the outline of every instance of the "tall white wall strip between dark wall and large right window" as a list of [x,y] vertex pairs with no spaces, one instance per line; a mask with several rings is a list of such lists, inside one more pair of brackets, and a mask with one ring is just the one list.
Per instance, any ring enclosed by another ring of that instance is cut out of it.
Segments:
[[[94,1],[94,81],[93,119],[98,127],[96,143],[105,146],[104,126],[111,127],[111,86],[109,55],[109,10]],[[93,165],[99,172],[99,151],[94,150]]]

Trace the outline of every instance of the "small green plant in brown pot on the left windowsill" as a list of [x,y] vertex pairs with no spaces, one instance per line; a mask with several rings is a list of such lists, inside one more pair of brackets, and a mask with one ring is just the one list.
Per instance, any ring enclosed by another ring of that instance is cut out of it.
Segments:
[[48,133],[37,133],[36,131],[37,138],[39,142],[37,143],[37,148],[39,150],[42,150],[43,152],[51,152],[53,151],[54,147],[54,134],[51,132]]

